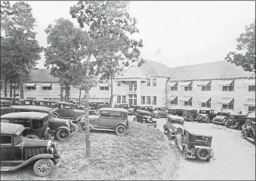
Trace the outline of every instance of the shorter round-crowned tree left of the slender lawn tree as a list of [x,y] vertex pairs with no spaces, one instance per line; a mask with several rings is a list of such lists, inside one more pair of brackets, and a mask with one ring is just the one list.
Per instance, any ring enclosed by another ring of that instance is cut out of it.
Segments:
[[[60,18],[46,28],[48,47],[45,49],[45,66],[50,74],[60,79],[65,86],[65,101],[69,101],[69,86],[74,77],[69,73],[72,66],[79,64],[86,55],[87,35],[81,28],[76,28],[70,20]],[[62,95],[62,89],[61,89]]]

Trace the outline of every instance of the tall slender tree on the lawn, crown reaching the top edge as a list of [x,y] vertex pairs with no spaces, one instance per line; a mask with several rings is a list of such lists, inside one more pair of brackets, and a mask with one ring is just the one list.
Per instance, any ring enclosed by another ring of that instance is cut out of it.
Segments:
[[[138,28],[136,27],[137,21],[135,18],[129,15],[128,5],[129,2],[127,1],[79,1],[71,7],[70,14],[72,18],[76,18],[82,28],[86,26],[85,29],[89,35],[86,54],[87,79],[89,79],[89,68],[93,56],[96,58],[105,51],[115,53],[119,51],[112,47],[115,37],[122,40],[122,45],[126,45],[127,49],[133,49],[132,54],[127,51],[123,52],[125,57],[129,57],[124,61],[124,64],[129,65],[129,62],[139,61],[140,51],[138,47],[142,47],[142,40],[137,41],[129,36],[138,33]],[[133,54],[136,54],[136,56],[132,56]],[[101,58],[97,59],[96,66],[101,66],[102,61]],[[85,88],[86,157],[90,157],[91,142],[88,114],[90,86],[85,85]]]

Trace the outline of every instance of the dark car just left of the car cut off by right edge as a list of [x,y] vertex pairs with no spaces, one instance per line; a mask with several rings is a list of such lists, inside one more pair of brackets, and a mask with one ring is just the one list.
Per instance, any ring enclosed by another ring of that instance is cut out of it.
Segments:
[[236,129],[240,130],[242,128],[242,125],[245,123],[245,117],[247,115],[242,115],[240,113],[229,113],[227,115],[227,127],[236,127]]

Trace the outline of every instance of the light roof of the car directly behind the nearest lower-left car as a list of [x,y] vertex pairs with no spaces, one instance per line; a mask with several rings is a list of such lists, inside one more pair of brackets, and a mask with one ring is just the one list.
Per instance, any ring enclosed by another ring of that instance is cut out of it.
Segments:
[[44,119],[44,117],[48,117],[48,114],[39,112],[18,112],[1,115],[1,119]]

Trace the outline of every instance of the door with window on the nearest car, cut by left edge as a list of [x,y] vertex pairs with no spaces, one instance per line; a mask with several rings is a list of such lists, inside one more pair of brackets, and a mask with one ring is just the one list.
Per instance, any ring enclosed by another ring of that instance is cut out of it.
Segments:
[[[12,135],[3,134],[0,136],[1,161],[14,159],[14,146],[12,146],[12,139],[13,139]],[[1,166],[7,166],[2,164]]]

